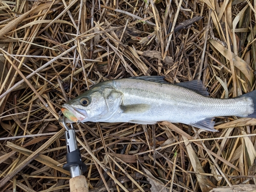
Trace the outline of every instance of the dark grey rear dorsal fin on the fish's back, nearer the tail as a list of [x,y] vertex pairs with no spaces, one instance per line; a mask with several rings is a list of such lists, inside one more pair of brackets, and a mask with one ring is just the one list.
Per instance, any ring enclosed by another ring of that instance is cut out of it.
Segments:
[[193,81],[187,81],[187,82],[180,82],[180,83],[175,83],[175,85],[193,90],[203,96],[209,96],[209,93],[207,92],[207,89],[204,87],[201,80],[200,81],[193,80]]

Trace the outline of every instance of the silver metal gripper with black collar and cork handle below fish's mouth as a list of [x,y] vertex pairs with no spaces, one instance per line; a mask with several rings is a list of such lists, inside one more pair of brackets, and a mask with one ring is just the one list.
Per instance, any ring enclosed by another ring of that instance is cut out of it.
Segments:
[[63,165],[63,169],[69,170],[71,179],[69,180],[70,192],[88,192],[89,187],[86,177],[82,175],[86,172],[87,166],[81,160],[81,153],[77,147],[76,135],[73,124],[71,123],[71,129],[66,124],[66,118],[60,120],[65,126],[65,138],[67,145],[67,163]]

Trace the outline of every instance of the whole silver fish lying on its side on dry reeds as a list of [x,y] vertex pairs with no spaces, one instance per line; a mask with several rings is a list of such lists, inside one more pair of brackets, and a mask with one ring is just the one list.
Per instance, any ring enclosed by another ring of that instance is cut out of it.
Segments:
[[230,99],[208,97],[198,80],[170,84],[161,76],[114,79],[63,104],[70,122],[131,122],[154,124],[158,121],[185,123],[215,131],[216,116],[256,118],[256,90]]

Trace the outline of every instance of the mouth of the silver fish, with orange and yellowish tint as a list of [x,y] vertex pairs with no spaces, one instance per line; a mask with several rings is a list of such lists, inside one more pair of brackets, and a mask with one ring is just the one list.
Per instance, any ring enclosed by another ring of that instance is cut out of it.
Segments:
[[68,119],[74,122],[83,122],[84,119],[88,117],[87,112],[85,110],[74,108],[69,104],[63,104],[62,107],[63,108],[61,109],[61,111],[63,115],[65,115]]

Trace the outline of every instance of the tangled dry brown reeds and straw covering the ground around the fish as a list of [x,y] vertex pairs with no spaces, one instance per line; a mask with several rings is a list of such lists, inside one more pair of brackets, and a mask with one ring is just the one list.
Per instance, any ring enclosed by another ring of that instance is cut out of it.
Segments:
[[[254,90],[255,7],[249,0],[0,1],[0,191],[69,191],[58,113],[99,81],[202,79],[215,98]],[[75,129],[91,192],[234,191],[256,181],[255,124],[218,117],[215,133],[168,122]]]

